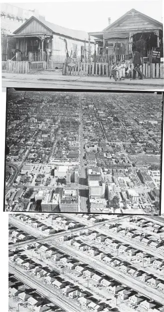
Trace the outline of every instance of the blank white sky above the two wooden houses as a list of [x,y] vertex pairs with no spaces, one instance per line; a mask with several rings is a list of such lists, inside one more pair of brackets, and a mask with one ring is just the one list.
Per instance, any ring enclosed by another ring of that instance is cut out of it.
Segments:
[[72,2],[37,2],[14,3],[13,5],[37,9],[45,19],[67,28],[84,31],[101,31],[111,22],[121,17],[132,8],[162,22],[162,0],[106,0],[106,1],[72,1]]

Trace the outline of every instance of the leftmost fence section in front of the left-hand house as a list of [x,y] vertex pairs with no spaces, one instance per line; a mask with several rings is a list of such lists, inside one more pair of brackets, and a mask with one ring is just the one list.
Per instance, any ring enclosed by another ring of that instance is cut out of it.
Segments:
[[26,61],[7,61],[7,72],[26,74],[29,71],[29,62]]

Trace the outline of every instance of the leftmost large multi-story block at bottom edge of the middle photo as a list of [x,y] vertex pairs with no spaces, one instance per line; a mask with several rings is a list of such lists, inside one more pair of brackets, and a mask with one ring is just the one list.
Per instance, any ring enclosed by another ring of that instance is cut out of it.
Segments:
[[42,211],[58,211],[59,212],[60,205],[60,193],[56,194],[55,191],[50,191],[49,193],[45,193],[43,199],[41,201],[41,209]]

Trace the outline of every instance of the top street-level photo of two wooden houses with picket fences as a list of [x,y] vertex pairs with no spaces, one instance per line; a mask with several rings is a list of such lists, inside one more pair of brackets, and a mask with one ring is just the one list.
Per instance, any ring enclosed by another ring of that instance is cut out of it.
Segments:
[[2,3],[2,87],[163,89],[162,14],[162,0]]

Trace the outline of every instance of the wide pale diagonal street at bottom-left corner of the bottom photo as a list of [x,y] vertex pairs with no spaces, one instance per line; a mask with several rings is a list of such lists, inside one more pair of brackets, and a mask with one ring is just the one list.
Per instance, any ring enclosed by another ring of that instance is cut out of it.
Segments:
[[13,273],[20,281],[28,285],[32,289],[36,289],[43,298],[48,298],[53,304],[61,307],[64,311],[69,312],[83,312],[76,303],[72,303],[70,299],[65,298],[61,293],[58,293],[55,288],[54,290],[48,289],[48,287],[42,283],[42,281],[37,281],[36,278],[31,278],[27,275],[23,269],[15,268],[14,264],[9,263],[9,272]]

